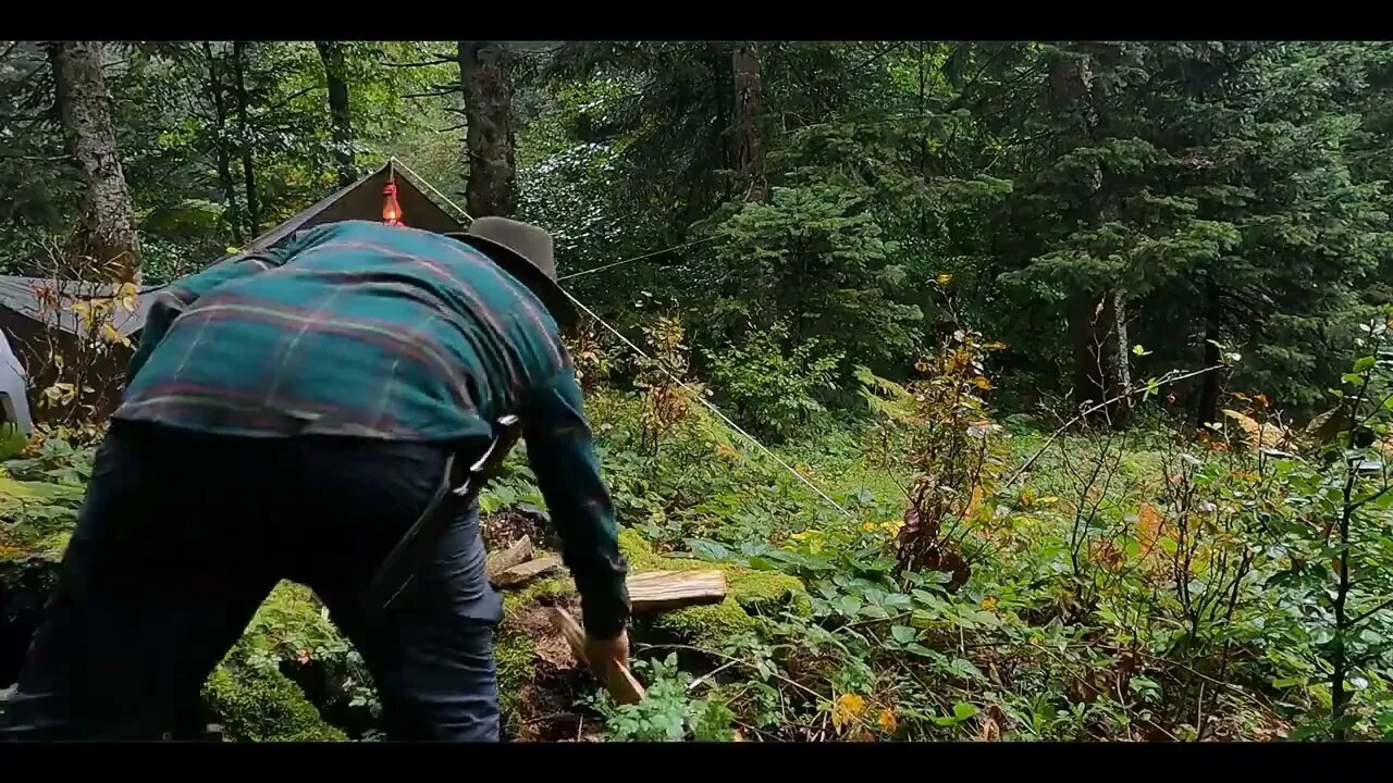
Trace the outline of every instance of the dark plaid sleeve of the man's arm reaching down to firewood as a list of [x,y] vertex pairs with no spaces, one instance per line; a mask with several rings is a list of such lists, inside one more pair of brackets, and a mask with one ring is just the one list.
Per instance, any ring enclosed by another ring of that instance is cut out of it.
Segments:
[[618,552],[614,509],[574,372],[564,371],[536,394],[522,421],[528,461],[561,539],[561,559],[581,594],[585,631],[614,638],[630,614],[628,566]]

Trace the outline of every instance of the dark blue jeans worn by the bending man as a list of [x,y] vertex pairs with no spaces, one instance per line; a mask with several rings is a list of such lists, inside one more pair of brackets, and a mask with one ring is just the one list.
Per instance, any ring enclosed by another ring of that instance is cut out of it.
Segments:
[[390,738],[496,741],[501,600],[476,513],[447,529],[384,617],[364,612],[368,582],[444,460],[429,444],[113,425],[0,736],[174,730],[284,578],[315,589],[362,653]]

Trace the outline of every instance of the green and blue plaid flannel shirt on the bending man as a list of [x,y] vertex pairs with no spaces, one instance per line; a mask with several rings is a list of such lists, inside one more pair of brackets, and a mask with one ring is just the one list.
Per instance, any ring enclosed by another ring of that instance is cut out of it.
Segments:
[[160,293],[114,418],[234,436],[340,435],[482,449],[522,421],[586,630],[627,617],[610,496],[557,326],[449,237],[329,223]]

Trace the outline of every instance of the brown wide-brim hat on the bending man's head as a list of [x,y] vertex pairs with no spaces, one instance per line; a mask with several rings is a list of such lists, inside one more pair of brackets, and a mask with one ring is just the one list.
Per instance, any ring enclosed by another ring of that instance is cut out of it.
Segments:
[[556,251],[552,234],[545,228],[507,217],[476,217],[465,233],[447,237],[483,251],[508,274],[528,287],[561,332],[573,332],[579,323],[575,304],[556,281]]

